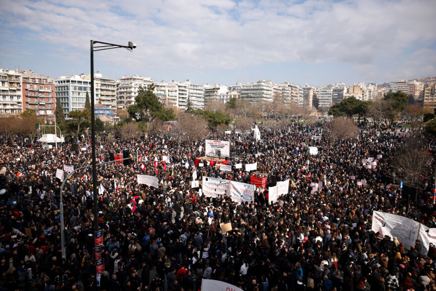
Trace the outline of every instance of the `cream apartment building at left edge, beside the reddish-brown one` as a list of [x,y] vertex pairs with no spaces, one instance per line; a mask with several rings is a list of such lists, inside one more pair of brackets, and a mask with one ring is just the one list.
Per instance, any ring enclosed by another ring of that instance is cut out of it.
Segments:
[[23,112],[23,81],[15,70],[0,68],[0,114]]

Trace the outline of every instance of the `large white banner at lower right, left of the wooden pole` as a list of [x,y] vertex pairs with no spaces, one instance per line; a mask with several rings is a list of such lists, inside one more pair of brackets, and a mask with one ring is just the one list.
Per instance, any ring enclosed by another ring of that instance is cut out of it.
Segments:
[[407,249],[410,249],[411,245],[415,245],[419,229],[419,222],[406,217],[379,211],[373,212],[371,230],[375,233],[380,232],[381,236],[389,235],[391,238],[396,236]]

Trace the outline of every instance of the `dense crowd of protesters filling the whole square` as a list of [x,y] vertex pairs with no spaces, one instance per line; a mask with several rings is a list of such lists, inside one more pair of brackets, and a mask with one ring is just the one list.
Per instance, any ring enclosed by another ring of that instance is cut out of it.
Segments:
[[[204,279],[244,291],[436,290],[432,245],[423,252],[417,240],[405,249],[395,237],[371,231],[374,210],[435,227],[432,165],[417,179],[417,204],[409,205],[392,165],[407,137],[384,125],[361,124],[355,138],[339,142],[328,137],[328,126],[320,121],[267,130],[260,124],[259,141],[211,132],[205,138],[231,142],[229,172],[206,160],[195,167],[205,154],[204,140],[180,142],[166,133],[122,140],[116,132],[102,132],[96,138],[98,161],[124,149],[132,159],[130,165],[97,167],[99,193],[93,193],[91,168],[64,173],[65,258],[56,170],[90,165],[90,137],[73,151],[70,142],[57,150],[38,143],[20,148],[18,140],[2,136],[0,291],[199,291]],[[308,146],[318,147],[318,154],[309,155]],[[427,147],[434,155],[434,144]],[[362,159],[379,155],[377,169],[362,166]],[[194,173],[199,181],[208,176],[250,183],[244,164],[255,162],[268,180],[251,203],[206,197],[201,183],[191,187]],[[156,176],[159,187],[138,184],[138,174]],[[268,187],[286,179],[288,193],[270,203]],[[357,185],[362,179],[366,185]],[[314,182],[321,185],[316,190]],[[104,230],[100,275],[95,220]],[[222,223],[231,223],[232,230],[222,232]]]

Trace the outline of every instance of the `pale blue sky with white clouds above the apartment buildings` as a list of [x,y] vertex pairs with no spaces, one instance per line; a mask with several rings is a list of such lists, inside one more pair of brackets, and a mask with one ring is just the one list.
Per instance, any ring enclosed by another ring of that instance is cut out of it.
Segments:
[[312,86],[436,76],[435,0],[0,0],[0,67]]

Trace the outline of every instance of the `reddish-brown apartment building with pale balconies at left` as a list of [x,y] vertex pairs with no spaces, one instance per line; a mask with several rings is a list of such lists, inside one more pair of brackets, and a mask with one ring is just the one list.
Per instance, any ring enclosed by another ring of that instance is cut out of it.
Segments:
[[32,109],[40,117],[54,119],[54,79],[38,76],[32,71],[21,71],[23,82],[23,111]]

